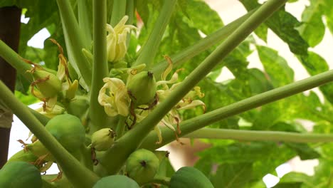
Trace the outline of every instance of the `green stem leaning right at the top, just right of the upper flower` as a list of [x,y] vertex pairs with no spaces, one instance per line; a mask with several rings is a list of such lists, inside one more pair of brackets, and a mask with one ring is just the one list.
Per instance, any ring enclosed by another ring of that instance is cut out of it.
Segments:
[[161,13],[154,24],[152,33],[150,33],[146,43],[144,43],[144,46],[140,49],[137,61],[133,63],[133,66],[145,63],[148,70],[151,68],[154,63],[157,50],[159,49],[159,43],[162,41],[163,33],[169,23],[174,8],[176,7],[176,2],[176,0],[164,1]]

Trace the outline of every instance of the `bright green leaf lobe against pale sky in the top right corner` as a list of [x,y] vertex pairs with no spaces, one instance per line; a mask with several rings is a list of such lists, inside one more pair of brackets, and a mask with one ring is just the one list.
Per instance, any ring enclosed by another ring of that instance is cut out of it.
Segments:
[[302,13],[302,25],[298,28],[302,38],[304,38],[311,47],[317,46],[324,38],[325,26],[322,22],[322,1],[311,0],[310,6],[307,6]]

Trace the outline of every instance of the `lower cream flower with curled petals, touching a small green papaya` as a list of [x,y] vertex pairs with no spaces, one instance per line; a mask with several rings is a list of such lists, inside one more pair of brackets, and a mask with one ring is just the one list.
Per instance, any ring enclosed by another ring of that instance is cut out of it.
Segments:
[[104,78],[105,85],[100,89],[98,103],[104,106],[105,113],[109,116],[129,113],[130,98],[124,82],[119,78]]

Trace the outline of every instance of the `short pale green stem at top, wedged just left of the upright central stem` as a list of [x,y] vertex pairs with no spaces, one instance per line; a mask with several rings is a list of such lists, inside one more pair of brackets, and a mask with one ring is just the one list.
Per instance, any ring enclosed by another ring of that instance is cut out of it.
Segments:
[[91,45],[91,9],[88,9],[88,0],[78,1],[78,23],[80,31],[83,33],[84,47],[88,48]]

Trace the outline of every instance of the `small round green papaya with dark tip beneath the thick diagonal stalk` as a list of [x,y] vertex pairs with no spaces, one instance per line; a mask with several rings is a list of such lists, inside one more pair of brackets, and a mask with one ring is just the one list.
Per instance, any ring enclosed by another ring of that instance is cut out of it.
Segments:
[[140,185],[152,181],[158,170],[159,158],[149,150],[136,150],[127,158],[127,174]]

